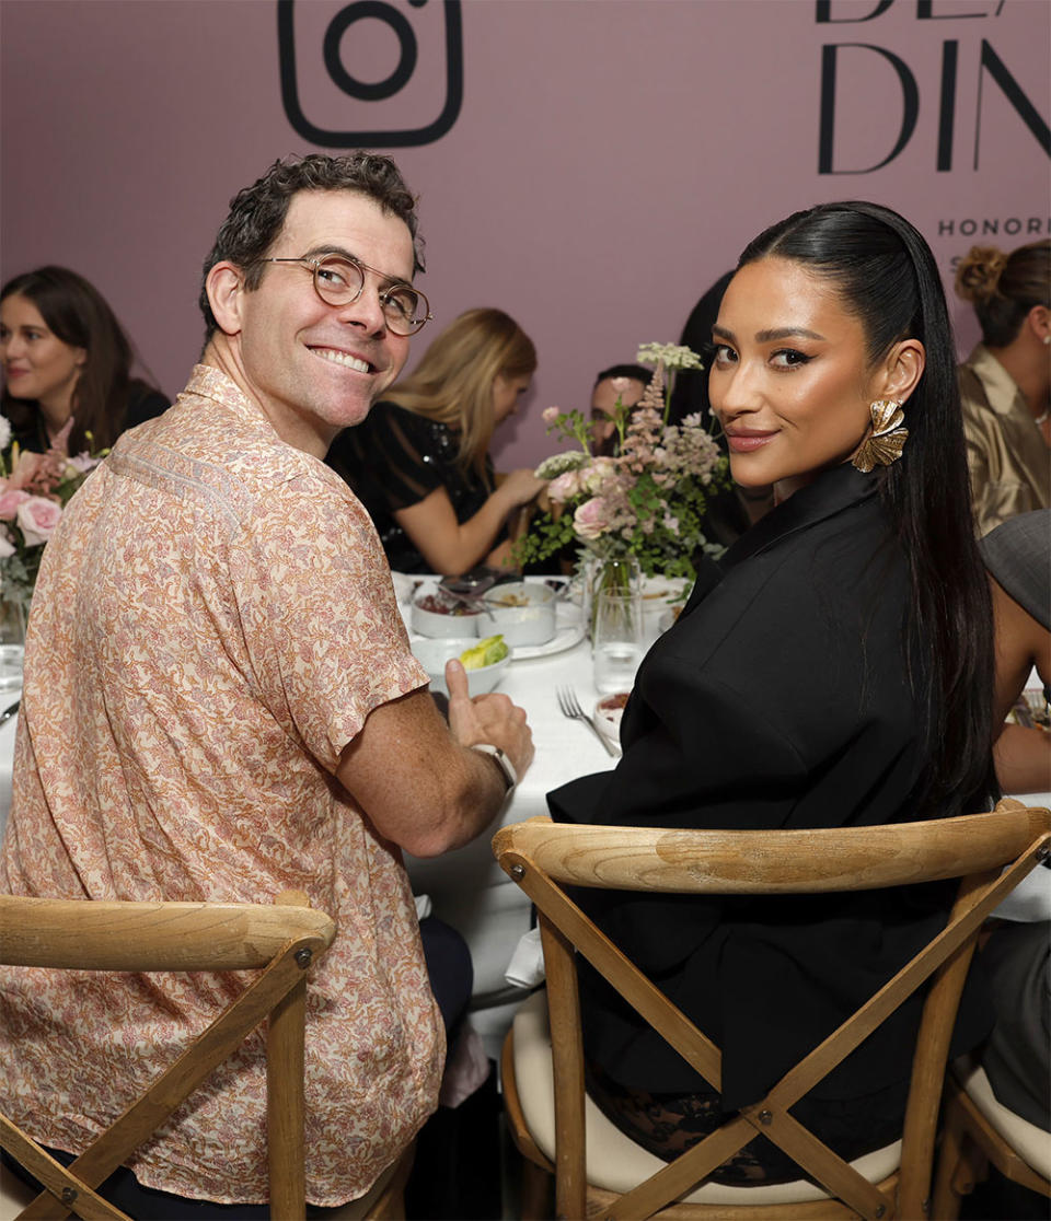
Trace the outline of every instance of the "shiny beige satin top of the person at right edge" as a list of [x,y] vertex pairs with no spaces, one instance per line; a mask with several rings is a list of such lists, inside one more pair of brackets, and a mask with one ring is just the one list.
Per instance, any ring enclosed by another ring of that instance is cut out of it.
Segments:
[[959,392],[976,534],[1051,508],[1051,451],[1022,392],[984,343],[959,366]]

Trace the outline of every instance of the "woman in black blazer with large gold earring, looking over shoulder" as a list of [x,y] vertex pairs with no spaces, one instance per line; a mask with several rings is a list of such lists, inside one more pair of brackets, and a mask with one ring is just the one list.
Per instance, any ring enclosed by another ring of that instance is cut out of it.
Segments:
[[[620,764],[550,794],[555,817],[761,829],[978,808],[992,631],[930,250],[874,204],[798,212],[745,249],[712,335],[733,477],[774,485],[778,503],[701,571],[638,672]],[[670,1159],[723,1106],[758,1101],[943,924],[950,899],[937,885],[579,901],[722,1048],[720,1095],[582,973],[589,1092]],[[919,1001],[903,1005],[794,1109],[842,1155],[899,1136],[918,1021]],[[969,985],[956,1046],[987,1022]],[[759,1138],[717,1177],[798,1170]]]

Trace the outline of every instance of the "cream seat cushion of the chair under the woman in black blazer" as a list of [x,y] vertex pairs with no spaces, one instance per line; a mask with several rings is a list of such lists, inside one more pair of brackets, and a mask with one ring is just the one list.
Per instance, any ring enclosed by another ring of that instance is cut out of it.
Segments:
[[[551,1068],[551,1032],[547,1024],[547,994],[538,991],[515,1015],[515,1082],[522,1114],[540,1151],[555,1160],[555,1085]],[[662,1170],[667,1162],[635,1144],[615,1127],[585,1095],[584,1125],[588,1182],[607,1192],[628,1192]],[[901,1142],[877,1149],[851,1165],[870,1183],[892,1175],[901,1161]],[[758,1187],[727,1187],[705,1183],[689,1195],[688,1204],[796,1204],[829,1199],[826,1192],[807,1179]]]

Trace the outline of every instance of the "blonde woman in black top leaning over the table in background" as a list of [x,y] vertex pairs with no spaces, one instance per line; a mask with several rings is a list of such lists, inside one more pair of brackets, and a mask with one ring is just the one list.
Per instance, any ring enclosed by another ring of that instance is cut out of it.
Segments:
[[535,368],[513,319],[468,310],[363,424],[336,437],[329,465],[369,510],[395,571],[458,575],[510,562],[507,519],[544,482],[527,469],[494,475],[489,442]]

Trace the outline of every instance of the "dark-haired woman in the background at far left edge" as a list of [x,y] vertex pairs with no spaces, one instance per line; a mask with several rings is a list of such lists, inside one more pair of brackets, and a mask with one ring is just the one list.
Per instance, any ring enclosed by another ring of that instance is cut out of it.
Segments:
[[131,376],[132,359],[114,311],[75,271],[38,267],[0,289],[0,410],[23,449],[97,453],[166,410]]

